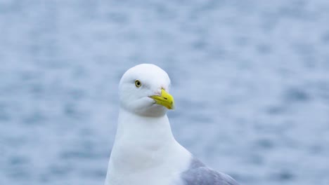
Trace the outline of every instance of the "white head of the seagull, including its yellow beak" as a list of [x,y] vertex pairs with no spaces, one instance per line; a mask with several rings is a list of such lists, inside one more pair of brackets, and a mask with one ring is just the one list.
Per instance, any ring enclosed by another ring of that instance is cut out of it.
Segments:
[[174,109],[169,86],[170,78],[160,67],[154,64],[131,67],[120,80],[120,106],[141,116],[164,116],[167,109]]

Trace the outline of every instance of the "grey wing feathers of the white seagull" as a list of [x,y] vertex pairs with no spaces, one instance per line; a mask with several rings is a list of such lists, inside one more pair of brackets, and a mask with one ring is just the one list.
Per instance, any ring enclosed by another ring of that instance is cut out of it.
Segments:
[[181,174],[184,185],[239,185],[228,174],[217,172],[193,159],[188,170]]

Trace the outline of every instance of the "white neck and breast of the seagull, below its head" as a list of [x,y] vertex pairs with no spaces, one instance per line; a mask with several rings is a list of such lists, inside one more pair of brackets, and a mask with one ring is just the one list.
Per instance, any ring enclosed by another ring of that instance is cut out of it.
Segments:
[[[136,182],[139,177],[143,177],[140,180],[147,184],[146,178],[149,178],[150,173],[153,174],[152,178],[169,175],[172,173],[172,164],[169,163],[176,163],[176,167],[185,167],[187,161],[175,161],[175,158],[188,158],[190,155],[174,139],[167,115],[145,117],[120,109],[105,184],[138,184]],[[157,169],[167,170],[160,172]],[[152,179],[149,182],[154,183]]]

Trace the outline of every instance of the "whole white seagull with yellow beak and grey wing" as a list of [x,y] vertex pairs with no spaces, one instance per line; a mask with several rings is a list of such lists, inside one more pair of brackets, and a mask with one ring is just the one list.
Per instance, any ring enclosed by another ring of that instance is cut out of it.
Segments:
[[168,74],[154,64],[138,64],[122,76],[105,185],[238,185],[176,141],[167,117],[174,109],[169,86]]

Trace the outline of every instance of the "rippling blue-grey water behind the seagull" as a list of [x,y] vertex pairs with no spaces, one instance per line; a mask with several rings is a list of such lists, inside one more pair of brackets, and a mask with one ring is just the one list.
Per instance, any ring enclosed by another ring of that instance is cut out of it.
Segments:
[[103,184],[117,85],[172,78],[176,139],[245,185],[329,184],[329,1],[0,0],[0,184]]

